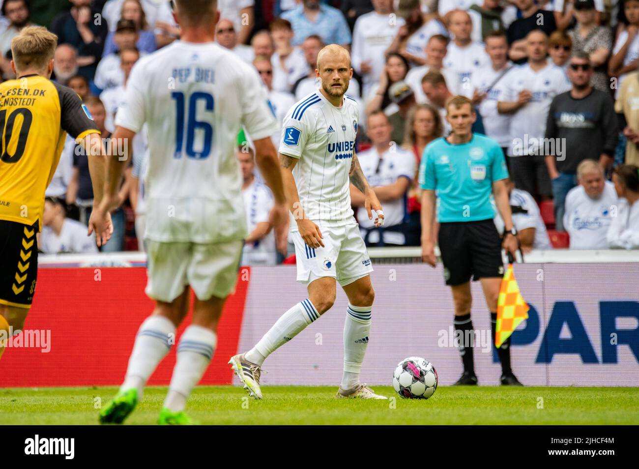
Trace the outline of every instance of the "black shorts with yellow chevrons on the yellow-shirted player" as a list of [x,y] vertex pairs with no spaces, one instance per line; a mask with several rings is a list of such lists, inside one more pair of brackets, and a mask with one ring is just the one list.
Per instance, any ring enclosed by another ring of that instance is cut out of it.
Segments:
[[0,304],[31,307],[38,278],[38,222],[0,220]]

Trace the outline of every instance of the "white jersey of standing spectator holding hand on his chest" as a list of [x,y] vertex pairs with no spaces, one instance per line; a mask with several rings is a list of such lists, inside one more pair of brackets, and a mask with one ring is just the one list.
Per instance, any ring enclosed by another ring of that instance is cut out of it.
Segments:
[[495,86],[500,101],[515,102],[520,91],[527,89],[532,99],[511,116],[509,155],[539,155],[538,144],[546,132],[546,119],[553,98],[571,89],[566,72],[552,62],[535,72],[527,63],[518,65]]

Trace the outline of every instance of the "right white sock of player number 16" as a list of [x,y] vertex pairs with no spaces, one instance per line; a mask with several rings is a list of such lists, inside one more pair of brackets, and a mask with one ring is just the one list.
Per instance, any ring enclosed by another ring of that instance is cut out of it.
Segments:
[[178,344],[178,360],[164,407],[173,412],[186,408],[187,399],[213,358],[215,344],[217,335],[212,330],[196,325],[186,328]]

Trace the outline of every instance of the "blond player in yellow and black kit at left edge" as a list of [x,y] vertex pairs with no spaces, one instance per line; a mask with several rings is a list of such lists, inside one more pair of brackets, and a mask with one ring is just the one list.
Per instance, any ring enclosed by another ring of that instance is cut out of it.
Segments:
[[[96,201],[104,189],[104,146],[91,115],[72,89],[49,80],[58,37],[25,27],[12,40],[17,79],[0,84],[0,356],[24,327],[36,287],[45,189],[56,172],[66,134],[88,151]],[[89,234],[93,220],[89,221]],[[96,233],[98,245],[112,231]]]

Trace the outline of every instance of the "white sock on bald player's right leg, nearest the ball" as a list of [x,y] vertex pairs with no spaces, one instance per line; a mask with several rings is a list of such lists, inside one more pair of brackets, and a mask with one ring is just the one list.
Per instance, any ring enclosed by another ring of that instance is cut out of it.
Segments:
[[344,376],[341,387],[350,390],[359,384],[362,362],[371,332],[372,306],[348,304],[344,323]]

